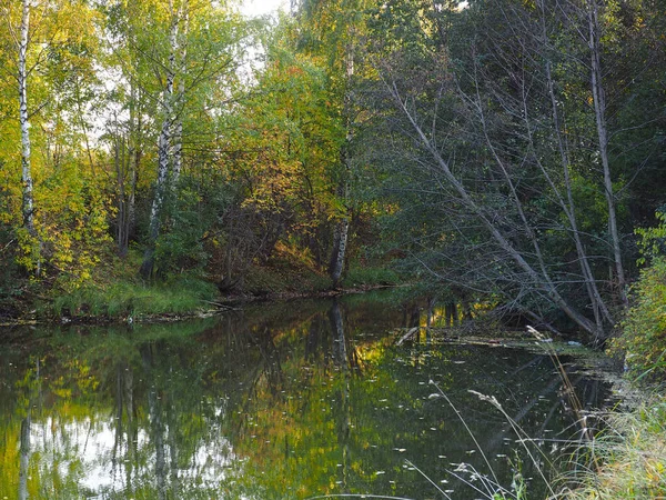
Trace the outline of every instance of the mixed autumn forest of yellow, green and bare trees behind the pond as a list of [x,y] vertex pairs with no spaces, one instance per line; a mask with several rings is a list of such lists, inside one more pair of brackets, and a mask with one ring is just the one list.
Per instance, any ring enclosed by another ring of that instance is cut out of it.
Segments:
[[1,8],[6,318],[364,270],[603,346],[664,266],[659,0]]

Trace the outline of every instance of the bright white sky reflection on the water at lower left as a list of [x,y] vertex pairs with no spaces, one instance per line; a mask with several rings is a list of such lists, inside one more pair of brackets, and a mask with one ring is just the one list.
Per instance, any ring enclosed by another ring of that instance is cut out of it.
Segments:
[[[127,481],[155,479],[157,452],[149,433],[137,432],[137,456],[132,457],[127,432],[117,442],[117,428],[113,420],[101,420],[101,416],[82,418],[62,423],[51,417],[33,421],[30,429],[30,444],[33,460],[39,460],[42,488],[48,477],[57,476],[62,482],[74,482],[79,490],[88,490],[103,498],[112,492],[128,489]],[[169,429],[164,429],[168,442]],[[169,446],[164,446],[164,461],[170,463]],[[133,462],[130,463],[130,460]],[[223,436],[211,433],[206,442],[198,443],[189,463],[179,463],[176,477],[198,488],[216,488],[242,467],[243,461],[233,453],[231,442]],[[57,474],[54,473],[57,472]],[[171,471],[167,476],[170,476]],[[134,483],[135,486],[135,483]],[[90,498],[90,497],[88,497]]]

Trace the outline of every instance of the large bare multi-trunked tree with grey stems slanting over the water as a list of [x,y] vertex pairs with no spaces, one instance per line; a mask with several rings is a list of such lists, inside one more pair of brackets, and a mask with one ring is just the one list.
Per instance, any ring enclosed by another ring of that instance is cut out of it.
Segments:
[[373,18],[365,96],[385,192],[424,217],[408,230],[421,263],[551,327],[561,311],[603,341],[626,303],[626,237],[588,7],[389,2]]

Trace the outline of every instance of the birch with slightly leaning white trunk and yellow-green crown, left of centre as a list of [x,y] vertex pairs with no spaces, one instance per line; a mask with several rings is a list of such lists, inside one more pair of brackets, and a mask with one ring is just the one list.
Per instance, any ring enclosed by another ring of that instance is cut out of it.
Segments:
[[[159,258],[167,209],[179,199],[185,164],[184,137],[196,131],[211,140],[213,131],[203,128],[210,119],[195,122],[193,117],[210,118],[219,112],[215,99],[224,91],[219,92],[216,87],[235,78],[243,30],[225,3],[205,0],[172,0],[168,4],[121,1],[109,7],[108,18],[110,42],[120,43],[122,49],[122,57],[114,63],[123,83],[131,82],[154,109],[150,121],[157,137],[157,167],[140,268],[140,274],[149,278]],[[139,22],[145,19],[150,19],[148,26]],[[188,126],[190,130],[185,130]]]

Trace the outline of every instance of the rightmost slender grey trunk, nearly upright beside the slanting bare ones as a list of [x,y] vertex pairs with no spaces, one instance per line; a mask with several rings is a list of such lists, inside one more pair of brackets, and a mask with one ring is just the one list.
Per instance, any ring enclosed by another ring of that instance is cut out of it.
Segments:
[[604,194],[608,204],[608,232],[613,246],[613,257],[615,261],[615,272],[617,274],[617,287],[619,299],[624,306],[628,306],[625,293],[626,280],[624,267],[622,263],[622,247],[619,233],[617,231],[617,216],[615,211],[615,194],[613,192],[613,178],[608,162],[608,129],[606,126],[606,96],[604,92],[602,58],[599,43],[599,20],[596,0],[588,0],[588,22],[589,22],[589,52],[592,59],[591,84],[592,97],[594,100],[594,113],[596,120],[597,136],[599,140],[599,156],[604,170]]

